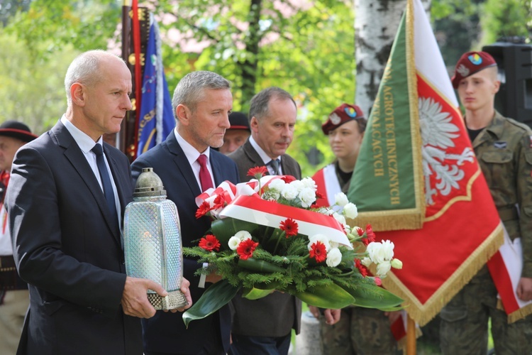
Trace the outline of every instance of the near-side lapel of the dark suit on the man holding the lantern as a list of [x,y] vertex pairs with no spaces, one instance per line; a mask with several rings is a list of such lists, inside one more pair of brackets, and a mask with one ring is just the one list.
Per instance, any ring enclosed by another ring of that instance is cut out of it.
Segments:
[[74,138],[72,138],[70,135],[70,132],[61,122],[58,122],[52,128],[52,133],[57,139],[57,144],[65,149],[65,152],[63,153],[65,158],[70,161],[74,169],[79,174],[79,177],[82,178],[82,180],[85,182],[85,185],[87,185],[87,188],[94,197],[94,200],[96,200],[96,204],[98,205],[101,214],[103,214],[106,224],[112,231],[114,239],[120,243],[120,236],[116,234],[116,223],[111,221],[111,216],[108,212],[109,207],[107,207],[104,192],[101,190],[98,180],[96,180],[96,177],[94,176],[94,173],[87,162],[87,158],[85,158],[82,150],[79,148],[77,143],[74,141]]

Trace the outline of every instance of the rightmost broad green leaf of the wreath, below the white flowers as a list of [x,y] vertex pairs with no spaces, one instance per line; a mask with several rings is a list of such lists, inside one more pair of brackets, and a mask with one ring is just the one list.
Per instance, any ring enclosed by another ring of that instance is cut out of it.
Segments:
[[359,307],[377,308],[384,311],[400,310],[401,303],[404,301],[401,297],[377,285],[359,284],[355,289],[346,287],[343,289],[355,298],[353,305]]

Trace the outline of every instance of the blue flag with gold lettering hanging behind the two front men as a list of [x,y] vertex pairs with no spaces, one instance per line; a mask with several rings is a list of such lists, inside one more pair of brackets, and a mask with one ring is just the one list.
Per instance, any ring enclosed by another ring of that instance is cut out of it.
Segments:
[[145,56],[136,156],[164,141],[175,126],[160,52],[159,26],[150,13],[150,36]]

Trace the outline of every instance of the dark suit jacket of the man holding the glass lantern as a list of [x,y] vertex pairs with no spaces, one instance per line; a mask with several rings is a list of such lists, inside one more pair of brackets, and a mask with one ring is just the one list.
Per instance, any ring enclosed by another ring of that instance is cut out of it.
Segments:
[[[126,155],[104,143],[122,207],[132,199]],[[6,196],[18,273],[31,303],[19,354],[142,354],[140,320],[123,314],[120,235],[104,192],[59,121],[23,146]]]

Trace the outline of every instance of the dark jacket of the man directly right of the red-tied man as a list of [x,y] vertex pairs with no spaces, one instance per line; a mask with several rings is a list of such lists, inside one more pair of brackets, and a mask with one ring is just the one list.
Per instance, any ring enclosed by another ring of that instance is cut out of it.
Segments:
[[[265,165],[260,155],[248,141],[228,155],[238,165],[240,180],[249,181],[248,170]],[[284,175],[301,179],[301,168],[294,158],[281,157]],[[249,337],[284,337],[292,328],[299,333],[301,327],[301,301],[288,293],[272,293],[259,300],[248,300],[238,295],[231,301],[235,308],[233,333]]]

